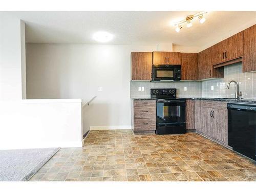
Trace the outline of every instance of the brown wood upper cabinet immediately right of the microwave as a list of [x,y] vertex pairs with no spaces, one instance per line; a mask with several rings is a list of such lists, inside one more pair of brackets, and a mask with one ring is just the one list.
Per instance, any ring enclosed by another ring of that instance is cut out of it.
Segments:
[[198,79],[198,53],[181,53],[181,80]]

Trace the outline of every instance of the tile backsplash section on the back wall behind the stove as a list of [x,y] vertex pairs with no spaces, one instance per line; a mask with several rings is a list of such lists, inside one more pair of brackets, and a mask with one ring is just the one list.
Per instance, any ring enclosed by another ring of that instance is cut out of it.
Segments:
[[[144,87],[144,91],[138,91],[138,87]],[[184,87],[187,88],[184,91]],[[201,97],[201,82],[199,81],[180,81],[180,82],[150,82],[150,81],[131,81],[131,98],[149,98],[150,89],[154,88],[176,88],[177,97]]]

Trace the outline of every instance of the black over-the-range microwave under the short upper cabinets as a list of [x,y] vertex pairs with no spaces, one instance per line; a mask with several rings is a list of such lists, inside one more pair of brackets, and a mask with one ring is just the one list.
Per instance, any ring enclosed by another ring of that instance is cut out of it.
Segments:
[[153,65],[152,82],[169,82],[181,80],[180,65]]

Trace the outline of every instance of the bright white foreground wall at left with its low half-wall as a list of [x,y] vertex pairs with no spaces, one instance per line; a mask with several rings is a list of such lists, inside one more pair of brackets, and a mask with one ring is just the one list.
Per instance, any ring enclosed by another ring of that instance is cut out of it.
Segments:
[[82,146],[81,99],[22,100],[25,26],[1,15],[0,29],[0,150]]

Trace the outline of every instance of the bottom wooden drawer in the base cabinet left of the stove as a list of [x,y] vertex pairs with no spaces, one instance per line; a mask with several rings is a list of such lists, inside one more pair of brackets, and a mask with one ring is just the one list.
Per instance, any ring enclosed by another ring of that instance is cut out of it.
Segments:
[[156,118],[134,119],[134,131],[156,130]]

